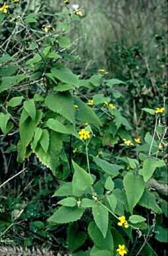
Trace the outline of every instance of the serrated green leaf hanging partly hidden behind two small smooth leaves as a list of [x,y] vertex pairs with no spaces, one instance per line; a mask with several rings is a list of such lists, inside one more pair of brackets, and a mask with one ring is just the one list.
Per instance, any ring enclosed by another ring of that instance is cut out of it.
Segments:
[[31,144],[34,153],[36,153],[38,159],[47,166],[54,175],[58,174],[57,166],[59,164],[59,153],[63,148],[63,142],[61,134],[51,131],[49,133],[49,148],[47,153],[43,150],[42,146],[38,144],[34,148],[34,144]]

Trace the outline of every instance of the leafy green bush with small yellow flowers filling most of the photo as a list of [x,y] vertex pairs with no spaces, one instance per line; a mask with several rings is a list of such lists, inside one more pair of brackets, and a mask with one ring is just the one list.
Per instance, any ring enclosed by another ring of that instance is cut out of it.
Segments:
[[167,242],[165,101],[143,106],[155,125],[142,138],[123,105],[125,81],[69,68],[78,60],[67,36],[80,22],[75,11],[65,3],[56,15],[29,13],[29,2],[15,4],[0,17],[1,153],[4,173],[24,176],[2,193],[1,241],[76,256],[124,255],[121,244],[129,255],[157,255],[157,243]]

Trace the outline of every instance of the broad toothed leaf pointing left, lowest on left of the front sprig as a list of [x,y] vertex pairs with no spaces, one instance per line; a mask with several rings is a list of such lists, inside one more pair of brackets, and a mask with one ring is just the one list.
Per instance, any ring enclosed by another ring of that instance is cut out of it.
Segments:
[[76,222],[76,220],[80,220],[82,214],[84,213],[84,208],[78,207],[67,207],[61,206],[54,214],[48,218],[48,222],[54,222],[59,224]]

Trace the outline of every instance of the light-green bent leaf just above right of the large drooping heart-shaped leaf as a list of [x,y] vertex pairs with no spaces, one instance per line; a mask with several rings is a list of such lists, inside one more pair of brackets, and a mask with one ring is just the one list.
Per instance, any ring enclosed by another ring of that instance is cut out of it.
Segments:
[[154,174],[155,169],[163,166],[165,166],[165,161],[157,158],[148,158],[144,161],[140,174],[144,177],[144,181],[148,181]]

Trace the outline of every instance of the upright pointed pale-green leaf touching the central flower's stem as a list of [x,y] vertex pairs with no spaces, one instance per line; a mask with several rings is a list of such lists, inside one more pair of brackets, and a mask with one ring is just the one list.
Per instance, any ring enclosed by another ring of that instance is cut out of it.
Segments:
[[72,191],[76,196],[81,196],[84,191],[90,187],[94,181],[89,173],[86,173],[79,165],[72,161],[74,167],[74,175],[72,179]]

